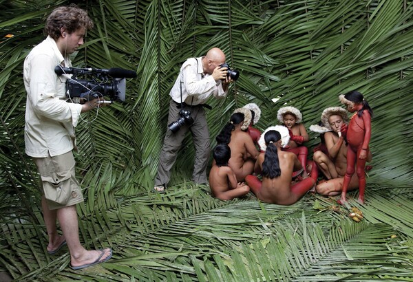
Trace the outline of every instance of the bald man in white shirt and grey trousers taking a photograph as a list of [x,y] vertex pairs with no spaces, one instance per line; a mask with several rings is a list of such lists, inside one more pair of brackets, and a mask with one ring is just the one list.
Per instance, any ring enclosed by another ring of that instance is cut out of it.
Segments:
[[[204,109],[209,106],[204,103],[211,96],[223,98],[228,92],[231,78],[226,76],[226,67],[220,67],[223,63],[225,54],[216,47],[209,50],[206,56],[189,58],[183,63],[169,93],[169,125],[160,153],[153,188],[155,191],[165,191],[178,150],[188,131],[191,131],[195,146],[192,180],[197,184],[207,183],[207,163],[211,149]],[[190,115],[180,113],[182,110]]]

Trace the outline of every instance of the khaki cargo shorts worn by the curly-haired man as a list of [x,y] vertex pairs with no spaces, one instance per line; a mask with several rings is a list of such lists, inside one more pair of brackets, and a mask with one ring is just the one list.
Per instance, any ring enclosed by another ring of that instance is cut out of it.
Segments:
[[83,194],[74,173],[72,151],[47,158],[33,158],[39,170],[43,195],[50,210],[83,202]]

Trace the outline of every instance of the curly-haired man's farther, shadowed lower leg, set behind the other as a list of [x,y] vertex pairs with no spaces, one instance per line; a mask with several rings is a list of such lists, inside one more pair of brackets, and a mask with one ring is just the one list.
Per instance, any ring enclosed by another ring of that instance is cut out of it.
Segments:
[[43,219],[47,230],[47,236],[49,237],[49,243],[47,244],[47,251],[51,252],[56,250],[65,241],[65,237],[60,236],[57,233],[56,228],[56,210],[50,210],[47,206],[45,195],[41,197],[41,207],[43,209]]

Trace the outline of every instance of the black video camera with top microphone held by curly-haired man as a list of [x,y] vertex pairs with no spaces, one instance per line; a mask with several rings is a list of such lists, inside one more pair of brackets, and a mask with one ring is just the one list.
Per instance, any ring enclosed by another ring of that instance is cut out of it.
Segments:
[[[72,78],[67,78],[67,94],[70,100],[76,103],[86,102],[102,96],[109,96],[110,102],[125,101],[125,78],[136,77],[136,72],[118,67],[81,69],[56,65],[54,73],[58,76],[73,74]],[[79,79],[78,76],[83,76],[83,79]]]

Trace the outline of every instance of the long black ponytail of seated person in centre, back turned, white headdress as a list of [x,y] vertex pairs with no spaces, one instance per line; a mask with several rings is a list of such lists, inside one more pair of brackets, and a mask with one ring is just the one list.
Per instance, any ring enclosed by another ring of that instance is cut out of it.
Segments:
[[266,144],[265,158],[262,163],[262,175],[268,178],[275,178],[281,175],[279,168],[278,152],[275,142],[281,139],[281,134],[276,130],[267,131],[264,135]]

